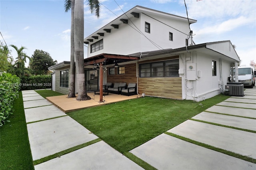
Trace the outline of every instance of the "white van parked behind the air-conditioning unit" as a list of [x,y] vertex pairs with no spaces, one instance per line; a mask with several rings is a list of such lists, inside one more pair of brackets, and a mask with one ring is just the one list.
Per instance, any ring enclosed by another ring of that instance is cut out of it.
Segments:
[[244,84],[244,86],[248,86],[252,88],[255,86],[255,73],[254,67],[252,66],[243,66],[238,67],[238,82]]

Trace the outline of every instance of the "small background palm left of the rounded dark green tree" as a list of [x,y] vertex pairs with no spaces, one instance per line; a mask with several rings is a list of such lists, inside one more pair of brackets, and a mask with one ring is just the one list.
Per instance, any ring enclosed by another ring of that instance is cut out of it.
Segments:
[[16,45],[10,45],[11,47],[13,47],[16,52],[17,52],[17,57],[16,57],[16,61],[14,63],[14,65],[16,65],[18,68],[22,68],[24,69],[26,58],[28,58],[30,60],[30,57],[28,57],[28,55],[26,53],[24,53],[24,49],[27,49],[26,47],[21,46],[20,48],[18,48]]

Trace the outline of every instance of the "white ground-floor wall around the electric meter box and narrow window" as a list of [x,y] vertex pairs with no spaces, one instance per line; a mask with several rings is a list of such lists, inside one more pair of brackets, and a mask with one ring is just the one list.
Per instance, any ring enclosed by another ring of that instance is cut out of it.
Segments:
[[[191,57],[191,60],[186,61],[186,57]],[[216,76],[212,76],[212,60],[216,61]],[[186,68],[184,63],[186,62]],[[188,66],[196,65],[196,80],[187,80]],[[220,78],[220,59],[205,55],[203,53],[194,52],[184,53],[180,55],[180,69],[186,69],[185,75],[180,74],[182,77],[182,99],[202,101],[214,97],[221,93],[219,90],[222,87],[225,90],[227,79],[230,76],[230,61],[222,60],[222,81]],[[201,71],[201,77],[198,77],[198,71]],[[187,82],[187,83],[186,83]]]

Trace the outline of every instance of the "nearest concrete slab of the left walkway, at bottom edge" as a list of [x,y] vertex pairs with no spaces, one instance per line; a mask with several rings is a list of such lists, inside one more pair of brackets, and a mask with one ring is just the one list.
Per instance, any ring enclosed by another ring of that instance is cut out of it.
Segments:
[[143,170],[104,141],[38,164],[35,170]]

